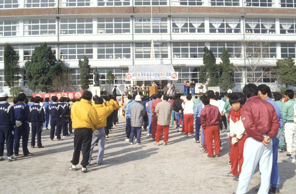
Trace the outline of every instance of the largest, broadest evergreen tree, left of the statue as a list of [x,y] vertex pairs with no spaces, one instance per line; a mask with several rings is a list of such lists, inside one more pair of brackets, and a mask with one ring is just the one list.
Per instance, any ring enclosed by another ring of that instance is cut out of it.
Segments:
[[25,63],[28,86],[33,91],[52,91],[52,78],[64,71],[65,64],[57,61],[52,47],[43,43],[35,48],[31,60]]

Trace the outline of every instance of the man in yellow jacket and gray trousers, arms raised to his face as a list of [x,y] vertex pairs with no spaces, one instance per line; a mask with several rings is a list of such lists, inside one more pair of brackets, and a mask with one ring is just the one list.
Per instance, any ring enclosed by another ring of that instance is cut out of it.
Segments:
[[99,140],[99,153],[96,159],[96,164],[101,165],[103,163],[104,148],[105,148],[105,127],[107,125],[107,117],[114,110],[111,103],[106,102],[103,98],[99,96],[94,96],[93,98],[95,105],[94,108],[99,116],[99,128],[94,130],[91,141],[91,151],[89,153],[89,164],[91,163],[91,155],[94,151],[94,145]]

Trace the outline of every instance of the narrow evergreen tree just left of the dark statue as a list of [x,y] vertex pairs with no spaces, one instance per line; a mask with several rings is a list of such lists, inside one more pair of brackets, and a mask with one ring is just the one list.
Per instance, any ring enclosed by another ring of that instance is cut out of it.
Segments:
[[89,89],[89,78],[91,77],[91,66],[89,59],[84,55],[83,60],[79,59],[78,66],[80,69],[80,85],[82,90]]

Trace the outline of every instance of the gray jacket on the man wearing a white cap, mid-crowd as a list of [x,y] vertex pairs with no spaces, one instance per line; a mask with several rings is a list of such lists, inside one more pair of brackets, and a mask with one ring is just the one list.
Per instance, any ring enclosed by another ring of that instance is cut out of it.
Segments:
[[144,123],[144,116],[146,114],[144,106],[140,102],[135,102],[129,107],[131,114],[131,126],[142,127]]

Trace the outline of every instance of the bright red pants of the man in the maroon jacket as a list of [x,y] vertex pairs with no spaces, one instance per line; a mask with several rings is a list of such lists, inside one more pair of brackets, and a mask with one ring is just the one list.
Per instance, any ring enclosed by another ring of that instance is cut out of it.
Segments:
[[215,143],[215,153],[220,154],[220,130],[219,125],[207,126],[204,129],[205,139],[207,142],[207,153],[209,156],[214,156],[213,150],[213,136]]

